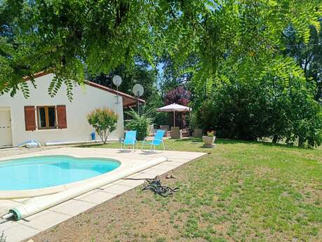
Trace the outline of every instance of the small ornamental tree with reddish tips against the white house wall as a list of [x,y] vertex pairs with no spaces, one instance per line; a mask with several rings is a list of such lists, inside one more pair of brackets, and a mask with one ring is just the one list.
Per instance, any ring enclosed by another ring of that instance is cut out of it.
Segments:
[[87,114],[88,123],[95,128],[104,144],[109,134],[116,130],[117,114],[107,107],[94,109]]

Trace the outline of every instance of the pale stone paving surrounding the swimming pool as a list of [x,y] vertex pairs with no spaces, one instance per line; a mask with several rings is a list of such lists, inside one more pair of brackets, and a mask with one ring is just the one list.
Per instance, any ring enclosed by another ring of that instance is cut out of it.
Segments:
[[[139,173],[130,175],[133,178],[153,178],[156,175],[161,175],[167,173],[169,170],[173,170],[184,163],[198,159],[199,157],[206,155],[206,153],[197,152],[155,152],[147,153],[141,151],[135,152],[120,152],[118,149],[100,149],[100,148],[76,148],[67,147],[61,149],[49,149],[40,152],[35,152],[32,154],[23,154],[15,157],[25,157],[33,155],[45,155],[45,154],[68,154],[81,157],[108,157],[112,159],[117,159],[121,163],[126,164],[126,167],[137,166],[138,164],[148,163],[152,159],[166,156],[168,161],[165,161],[159,165],[153,166],[146,170],[142,170]],[[8,157],[6,158],[8,159]],[[0,160],[1,162],[1,160]],[[127,178],[127,177],[126,177]],[[0,224],[0,232],[4,231],[6,236],[6,242],[18,242],[22,241],[30,236],[38,234],[40,231],[46,230],[53,227],[60,222],[63,222],[70,217],[78,215],[83,211],[86,211],[100,203],[104,203],[114,196],[122,194],[125,191],[133,189],[138,185],[142,184],[144,180],[118,180],[107,184],[98,189],[77,196],[74,199],[60,203],[57,206],[43,210],[40,213],[26,217],[25,220],[20,220],[18,222],[7,221]],[[46,195],[51,196],[51,195]],[[16,206],[21,206],[24,203],[30,203],[44,196],[35,198],[25,198],[25,199],[12,199],[12,200],[0,200],[0,215],[3,215],[8,211],[8,208],[14,208]]]

